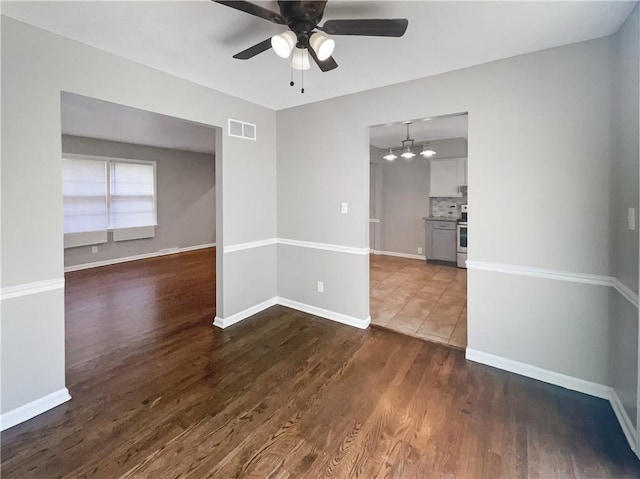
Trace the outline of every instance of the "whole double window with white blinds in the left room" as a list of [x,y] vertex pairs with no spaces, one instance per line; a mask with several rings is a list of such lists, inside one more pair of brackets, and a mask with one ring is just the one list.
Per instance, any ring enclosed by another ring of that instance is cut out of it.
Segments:
[[66,155],[65,248],[151,238],[156,226],[155,163]]

